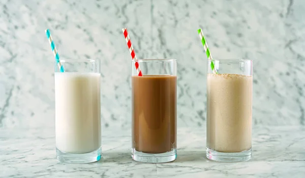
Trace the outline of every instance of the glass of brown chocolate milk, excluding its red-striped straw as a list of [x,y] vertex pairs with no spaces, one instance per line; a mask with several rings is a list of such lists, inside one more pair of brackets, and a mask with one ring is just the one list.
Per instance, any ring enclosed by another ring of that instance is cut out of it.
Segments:
[[132,63],[132,159],[164,163],[177,158],[177,63],[173,59]]

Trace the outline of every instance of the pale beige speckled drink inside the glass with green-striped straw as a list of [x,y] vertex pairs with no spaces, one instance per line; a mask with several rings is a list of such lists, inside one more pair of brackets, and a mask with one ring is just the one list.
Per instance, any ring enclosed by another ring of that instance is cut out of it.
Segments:
[[236,153],[251,149],[252,76],[207,75],[207,147]]

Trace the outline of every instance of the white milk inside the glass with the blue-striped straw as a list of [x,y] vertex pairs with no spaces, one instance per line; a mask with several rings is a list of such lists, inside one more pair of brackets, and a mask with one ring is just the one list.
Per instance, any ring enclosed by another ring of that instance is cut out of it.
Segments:
[[88,153],[101,146],[99,73],[55,73],[56,148]]

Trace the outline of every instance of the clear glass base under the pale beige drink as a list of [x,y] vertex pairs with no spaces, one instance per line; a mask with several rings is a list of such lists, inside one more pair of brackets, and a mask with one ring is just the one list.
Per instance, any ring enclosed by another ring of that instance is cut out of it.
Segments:
[[251,159],[251,149],[238,153],[217,152],[206,147],[206,158],[220,162],[242,162]]

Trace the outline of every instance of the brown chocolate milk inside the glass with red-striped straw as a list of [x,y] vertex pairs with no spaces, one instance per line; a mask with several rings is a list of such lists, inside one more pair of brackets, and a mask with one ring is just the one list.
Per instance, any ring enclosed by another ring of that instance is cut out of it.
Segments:
[[132,148],[158,154],[176,148],[176,81],[172,75],[132,76]]

